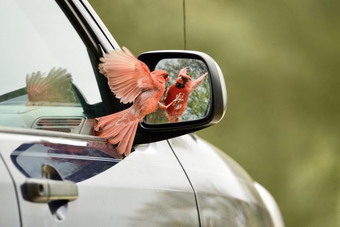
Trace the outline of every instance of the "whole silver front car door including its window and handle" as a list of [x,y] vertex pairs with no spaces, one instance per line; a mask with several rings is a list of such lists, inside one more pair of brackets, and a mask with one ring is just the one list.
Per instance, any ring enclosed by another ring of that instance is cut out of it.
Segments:
[[79,18],[86,12],[53,0],[0,9],[0,154],[22,226],[198,226],[194,192],[166,140],[122,157],[93,136],[94,118],[122,106],[97,69],[98,44],[113,44],[100,28],[86,30],[96,26]]

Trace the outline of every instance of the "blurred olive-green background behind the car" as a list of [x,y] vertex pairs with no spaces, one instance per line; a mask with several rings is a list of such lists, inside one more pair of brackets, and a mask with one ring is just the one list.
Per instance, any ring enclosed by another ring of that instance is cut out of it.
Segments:
[[[133,53],[183,50],[183,0],[89,0]],[[340,1],[186,0],[187,49],[220,65],[221,122],[197,134],[275,197],[287,227],[340,226]]]

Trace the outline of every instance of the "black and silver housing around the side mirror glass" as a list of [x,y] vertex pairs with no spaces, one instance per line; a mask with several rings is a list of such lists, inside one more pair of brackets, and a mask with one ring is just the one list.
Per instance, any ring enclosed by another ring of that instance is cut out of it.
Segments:
[[143,121],[138,125],[134,144],[167,140],[198,131],[221,121],[225,113],[227,91],[223,74],[218,64],[209,55],[195,51],[154,51],[145,52],[138,56],[138,59],[144,62],[150,71],[155,69],[159,61],[169,58],[197,59],[204,62],[210,81],[210,111],[203,119],[187,122],[148,124]]

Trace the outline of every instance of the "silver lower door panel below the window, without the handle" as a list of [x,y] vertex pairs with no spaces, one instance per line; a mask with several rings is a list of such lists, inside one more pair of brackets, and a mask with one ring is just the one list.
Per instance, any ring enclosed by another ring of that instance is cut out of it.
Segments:
[[[11,133],[0,133],[0,138],[24,227],[199,226],[194,193],[167,141],[137,147],[122,159],[100,140]],[[46,164],[64,180],[77,182],[76,200],[27,200],[25,182],[41,178]]]

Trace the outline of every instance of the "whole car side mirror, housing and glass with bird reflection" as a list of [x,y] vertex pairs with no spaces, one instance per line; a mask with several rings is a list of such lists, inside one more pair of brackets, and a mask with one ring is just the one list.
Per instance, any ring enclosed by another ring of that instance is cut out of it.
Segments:
[[218,64],[195,51],[155,51],[138,56],[151,71],[165,70],[170,83],[160,103],[169,105],[147,115],[134,144],[155,142],[198,131],[219,122],[226,110],[227,92]]

